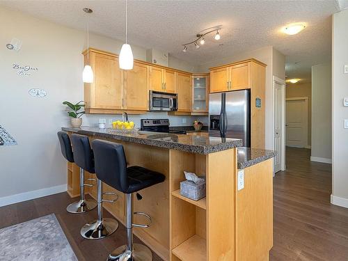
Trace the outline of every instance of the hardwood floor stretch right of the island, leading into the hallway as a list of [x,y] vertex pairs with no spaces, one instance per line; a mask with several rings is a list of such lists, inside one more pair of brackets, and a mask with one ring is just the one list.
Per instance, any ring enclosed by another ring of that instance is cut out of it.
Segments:
[[331,164],[286,148],[287,171],[274,177],[270,260],[348,260],[348,209],[331,205]]

